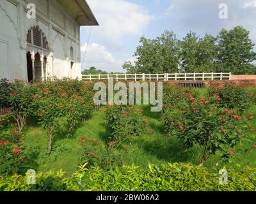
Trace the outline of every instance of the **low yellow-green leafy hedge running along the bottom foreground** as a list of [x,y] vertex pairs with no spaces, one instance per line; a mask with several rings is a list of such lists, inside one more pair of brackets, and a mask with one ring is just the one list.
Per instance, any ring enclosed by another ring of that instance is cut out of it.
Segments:
[[70,177],[63,171],[36,175],[36,184],[28,185],[27,176],[0,177],[0,191],[256,191],[256,169],[228,170],[227,184],[221,175],[202,166],[184,163],[162,164],[142,169],[122,166],[102,170],[80,170]]

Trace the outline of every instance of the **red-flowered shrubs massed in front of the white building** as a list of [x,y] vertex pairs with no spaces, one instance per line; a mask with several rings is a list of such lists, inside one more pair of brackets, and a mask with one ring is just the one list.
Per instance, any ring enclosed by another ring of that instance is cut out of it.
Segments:
[[0,115],[0,173],[6,175],[24,173],[28,161],[31,163],[33,159],[23,143],[28,118],[47,132],[49,155],[54,136],[60,132],[60,120],[67,121],[67,135],[72,136],[76,126],[88,119],[94,108],[92,85],[68,78],[51,78],[33,84],[20,80],[10,84],[1,80],[0,93],[4,92],[8,95],[4,95],[1,105],[11,109]]

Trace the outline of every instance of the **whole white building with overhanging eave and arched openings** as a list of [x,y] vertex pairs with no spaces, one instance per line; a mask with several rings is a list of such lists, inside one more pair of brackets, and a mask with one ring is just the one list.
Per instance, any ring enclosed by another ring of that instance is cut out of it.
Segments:
[[98,25],[84,0],[0,0],[0,78],[80,78],[81,25]]

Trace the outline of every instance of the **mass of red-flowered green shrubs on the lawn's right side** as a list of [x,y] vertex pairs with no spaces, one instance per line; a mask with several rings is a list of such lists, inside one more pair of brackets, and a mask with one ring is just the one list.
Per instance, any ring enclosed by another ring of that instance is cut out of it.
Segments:
[[162,114],[164,131],[177,136],[185,149],[196,147],[200,164],[216,152],[220,152],[221,160],[227,162],[234,156],[232,149],[246,133],[255,131],[250,122],[253,113],[239,115],[252,104],[241,87],[227,84],[211,88],[204,98],[191,89],[167,87],[164,96],[169,101]]

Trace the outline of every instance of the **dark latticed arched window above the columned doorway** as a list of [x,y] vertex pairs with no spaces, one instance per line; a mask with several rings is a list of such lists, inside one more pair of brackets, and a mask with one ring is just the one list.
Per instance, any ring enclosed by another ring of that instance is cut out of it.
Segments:
[[[33,42],[32,42],[33,41]],[[48,50],[47,38],[38,25],[31,27],[27,34],[27,43],[42,47]]]

